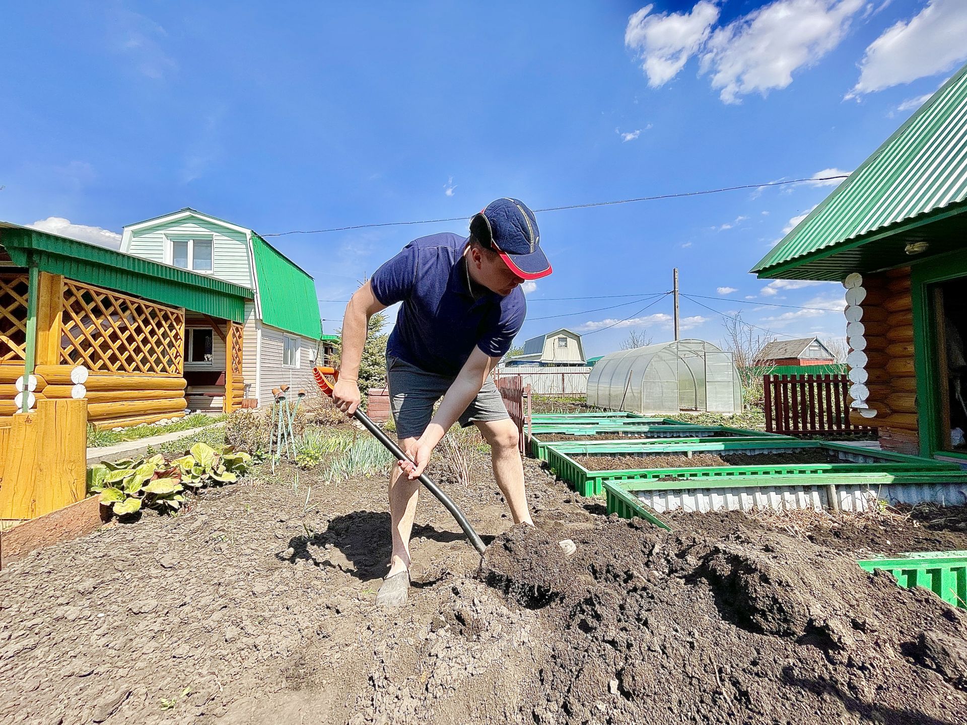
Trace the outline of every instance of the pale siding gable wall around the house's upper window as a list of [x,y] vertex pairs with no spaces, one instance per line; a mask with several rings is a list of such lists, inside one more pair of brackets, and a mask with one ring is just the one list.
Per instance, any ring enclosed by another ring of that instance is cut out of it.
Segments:
[[198,234],[212,239],[212,266],[214,276],[227,282],[241,284],[243,287],[253,287],[251,267],[249,265],[249,242],[243,232],[228,229],[211,221],[189,217],[168,221],[158,226],[135,230],[131,242],[126,249],[129,254],[155,262],[165,263],[164,246],[165,235]]

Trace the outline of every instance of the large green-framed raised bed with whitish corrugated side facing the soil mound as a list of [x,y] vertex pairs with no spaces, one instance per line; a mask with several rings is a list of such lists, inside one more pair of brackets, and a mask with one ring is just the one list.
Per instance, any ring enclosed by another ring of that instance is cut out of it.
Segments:
[[[754,459],[748,457],[753,455]],[[696,456],[705,464],[696,462]],[[890,486],[896,501],[932,500],[923,490],[907,490],[905,485],[939,485],[937,495],[951,496],[947,503],[967,502],[967,473],[956,464],[820,441],[559,443],[548,449],[547,462],[584,496],[600,494],[604,481],[630,483],[629,490],[633,488],[639,498],[653,500],[654,506],[649,506],[659,511],[678,507],[819,507],[831,503],[845,510],[861,510],[870,505],[867,494],[872,485]],[[825,488],[829,485],[842,488]],[[741,490],[762,486],[769,490],[761,496],[754,490]],[[716,494],[708,494],[710,489]],[[683,502],[682,495],[676,493],[662,501],[658,495],[644,493],[664,491],[695,491],[697,499]],[[824,501],[824,497],[832,498]]]

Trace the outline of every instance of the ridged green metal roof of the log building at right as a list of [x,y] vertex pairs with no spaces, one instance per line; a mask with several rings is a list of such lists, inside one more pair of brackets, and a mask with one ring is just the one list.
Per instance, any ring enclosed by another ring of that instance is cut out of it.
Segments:
[[[863,262],[856,246],[883,239],[912,223],[960,212],[967,212],[967,66],[752,272],[785,275],[786,270],[823,259],[814,265],[813,278],[837,278]],[[833,265],[830,257],[840,247],[853,253],[843,258],[843,264]]]

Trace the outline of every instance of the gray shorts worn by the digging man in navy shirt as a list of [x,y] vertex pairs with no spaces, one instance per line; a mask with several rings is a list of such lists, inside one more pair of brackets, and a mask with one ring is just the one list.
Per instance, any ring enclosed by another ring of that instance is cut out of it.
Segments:
[[[433,418],[436,401],[450,390],[454,378],[425,372],[399,358],[386,357],[386,384],[390,389],[390,410],[396,420],[397,438],[419,438]],[[464,428],[478,420],[507,420],[510,416],[493,380],[486,379],[458,419]]]

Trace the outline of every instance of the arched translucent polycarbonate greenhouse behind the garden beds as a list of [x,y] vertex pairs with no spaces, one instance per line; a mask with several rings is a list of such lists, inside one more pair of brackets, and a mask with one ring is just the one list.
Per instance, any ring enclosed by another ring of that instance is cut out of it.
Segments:
[[605,355],[588,377],[588,405],[610,410],[742,410],[732,353],[705,340],[677,340]]

